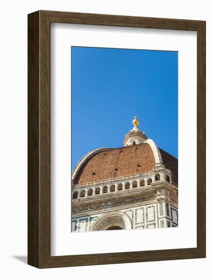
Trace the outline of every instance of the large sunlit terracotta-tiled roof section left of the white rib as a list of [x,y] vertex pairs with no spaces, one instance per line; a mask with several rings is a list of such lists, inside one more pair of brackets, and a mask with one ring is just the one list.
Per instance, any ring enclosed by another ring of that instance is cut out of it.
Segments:
[[89,158],[78,171],[74,184],[136,175],[150,171],[154,166],[154,155],[149,144],[109,149]]

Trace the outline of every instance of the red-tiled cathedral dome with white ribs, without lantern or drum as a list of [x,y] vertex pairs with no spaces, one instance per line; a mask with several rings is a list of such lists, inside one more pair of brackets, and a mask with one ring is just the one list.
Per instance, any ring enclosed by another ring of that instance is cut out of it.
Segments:
[[73,184],[83,185],[133,176],[152,171],[157,164],[163,163],[172,171],[172,182],[177,185],[178,160],[151,143],[153,141],[148,140],[139,145],[102,148],[89,153],[76,166],[77,171],[73,170]]

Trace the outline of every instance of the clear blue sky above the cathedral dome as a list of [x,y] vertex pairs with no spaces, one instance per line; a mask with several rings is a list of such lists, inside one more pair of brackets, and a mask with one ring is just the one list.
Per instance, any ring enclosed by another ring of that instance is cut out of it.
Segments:
[[178,158],[178,52],[72,47],[72,168],[139,128]]

